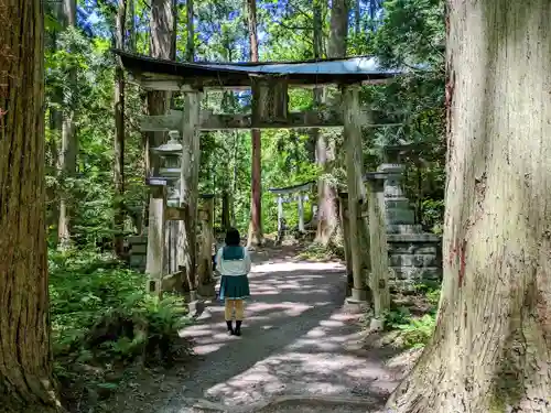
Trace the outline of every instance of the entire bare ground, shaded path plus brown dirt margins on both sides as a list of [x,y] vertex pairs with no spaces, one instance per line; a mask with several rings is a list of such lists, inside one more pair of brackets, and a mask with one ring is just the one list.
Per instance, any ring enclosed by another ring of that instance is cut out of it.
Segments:
[[[210,303],[182,332],[193,339],[193,361],[142,373],[109,401],[109,410],[353,413],[380,407],[413,356],[366,345],[361,316],[343,305],[342,263],[295,257],[292,247],[256,251],[241,337],[226,334],[223,304]],[[267,405],[281,396],[288,398],[284,403]]]

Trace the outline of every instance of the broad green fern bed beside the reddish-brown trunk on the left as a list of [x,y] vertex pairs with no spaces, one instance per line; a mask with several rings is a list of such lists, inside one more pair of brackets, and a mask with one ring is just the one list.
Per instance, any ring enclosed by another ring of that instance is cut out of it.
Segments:
[[191,323],[181,297],[147,294],[142,273],[107,254],[50,254],[55,374],[68,404],[117,390],[136,366],[191,356],[179,330]]

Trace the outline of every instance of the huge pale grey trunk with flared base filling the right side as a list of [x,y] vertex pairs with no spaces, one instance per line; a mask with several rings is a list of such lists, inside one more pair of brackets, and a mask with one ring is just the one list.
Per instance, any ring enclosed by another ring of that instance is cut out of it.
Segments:
[[442,296],[388,405],[549,412],[551,3],[454,0],[449,18]]

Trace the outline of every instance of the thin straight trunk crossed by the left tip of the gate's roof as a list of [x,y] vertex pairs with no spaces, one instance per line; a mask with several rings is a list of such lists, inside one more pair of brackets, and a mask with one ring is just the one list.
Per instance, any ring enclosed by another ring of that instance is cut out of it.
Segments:
[[[118,0],[117,32],[115,47],[125,47],[125,22],[127,19],[127,0]],[[115,68],[115,237],[114,248],[117,257],[125,253],[125,72],[119,64]]]

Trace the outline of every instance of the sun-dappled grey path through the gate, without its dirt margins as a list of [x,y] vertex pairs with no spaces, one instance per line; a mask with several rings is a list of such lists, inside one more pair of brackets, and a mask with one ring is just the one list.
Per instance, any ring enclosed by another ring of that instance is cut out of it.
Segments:
[[345,280],[335,262],[255,264],[242,336],[227,336],[223,304],[210,304],[182,332],[203,359],[154,412],[190,411],[194,399],[227,406],[281,394],[383,400],[397,381],[361,348],[357,316],[342,309]]

